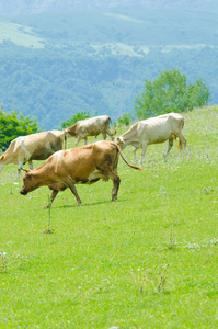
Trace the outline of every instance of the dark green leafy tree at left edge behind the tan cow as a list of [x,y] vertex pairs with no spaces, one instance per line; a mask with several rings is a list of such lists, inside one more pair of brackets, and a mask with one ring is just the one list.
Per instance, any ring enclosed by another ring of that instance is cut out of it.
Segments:
[[0,109],[0,149],[5,150],[11,140],[19,136],[25,136],[36,132],[39,132],[36,118],[24,117],[23,114],[18,111],[9,113]]

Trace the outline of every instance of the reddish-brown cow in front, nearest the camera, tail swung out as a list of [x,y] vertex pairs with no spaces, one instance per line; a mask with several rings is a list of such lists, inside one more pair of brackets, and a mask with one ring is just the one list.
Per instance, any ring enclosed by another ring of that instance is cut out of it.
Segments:
[[78,148],[57,151],[39,168],[25,170],[20,193],[26,195],[28,192],[46,185],[53,190],[51,204],[59,191],[70,188],[78,205],[81,205],[74,184],[91,184],[100,179],[103,181],[111,179],[113,181],[112,201],[114,201],[117,198],[121,183],[117,174],[118,154],[129,167],[142,170],[125,160],[116,143],[101,140]]

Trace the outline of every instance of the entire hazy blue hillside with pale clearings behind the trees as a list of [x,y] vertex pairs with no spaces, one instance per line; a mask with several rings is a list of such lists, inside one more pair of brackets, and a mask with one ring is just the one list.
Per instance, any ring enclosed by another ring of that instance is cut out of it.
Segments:
[[202,77],[211,103],[218,103],[215,12],[148,8],[4,15],[0,29],[3,110],[36,116],[45,129],[79,111],[106,113],[113,121],[134,113],[145,80],[164,69],[179,68],[188,83]]

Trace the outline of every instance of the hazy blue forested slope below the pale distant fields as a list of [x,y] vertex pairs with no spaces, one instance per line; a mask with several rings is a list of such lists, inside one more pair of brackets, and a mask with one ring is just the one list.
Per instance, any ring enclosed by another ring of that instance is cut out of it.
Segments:
[[[83,50],[80,53],[79,50]],[[200,76],[207,81],[213,103],[218,100],[216,49],[172,50],[151,48],[146,56],[104,56],[87,48],[27,49],[10,42],[0,45],[0,94],[8,111],[21,111],[37,117],[43,129],[61,125],[72,114],[89,111],[93,116],[108,114],[117,121],[125,112],[134,113],[134,99],[145,79],[153,80],[173,67],[194,83]],[[173,63],[173,64],[172,64]]]

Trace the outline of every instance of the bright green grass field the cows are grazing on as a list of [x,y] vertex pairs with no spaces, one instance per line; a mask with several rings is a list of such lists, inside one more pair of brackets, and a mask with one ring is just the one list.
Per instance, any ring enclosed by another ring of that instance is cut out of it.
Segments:
[[121,159],[116,202],[111,181],[77,185],[83,205],[66,190],[49,213],[49,190],[22,196],[4,168],[0,328],[218,327],[218,106],[184,116],[186,155]]

